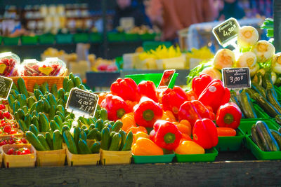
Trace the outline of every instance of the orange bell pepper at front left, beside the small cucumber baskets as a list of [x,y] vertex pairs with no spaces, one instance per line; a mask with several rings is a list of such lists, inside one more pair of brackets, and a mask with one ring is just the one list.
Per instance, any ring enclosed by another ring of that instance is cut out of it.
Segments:
[[138,138],[132,147],[133,155],[164,155],[162,148],[147,138]]

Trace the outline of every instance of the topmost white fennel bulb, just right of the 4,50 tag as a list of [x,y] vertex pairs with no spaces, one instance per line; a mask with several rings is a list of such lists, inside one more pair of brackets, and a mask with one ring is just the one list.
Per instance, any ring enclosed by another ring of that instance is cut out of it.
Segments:
[[239,29],[237,44],[240,48],[249,48],[259,40],[259,32],[251,26],[243,26]]

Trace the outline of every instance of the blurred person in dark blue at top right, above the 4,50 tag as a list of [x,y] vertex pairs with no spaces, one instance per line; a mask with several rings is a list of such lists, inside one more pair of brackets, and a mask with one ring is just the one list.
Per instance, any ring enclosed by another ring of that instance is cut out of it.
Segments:
[[219,9],[218,20],[227,20],[228,18],[240,20],[245,16],[245,12],[239,5],[238,0],[221,1]]

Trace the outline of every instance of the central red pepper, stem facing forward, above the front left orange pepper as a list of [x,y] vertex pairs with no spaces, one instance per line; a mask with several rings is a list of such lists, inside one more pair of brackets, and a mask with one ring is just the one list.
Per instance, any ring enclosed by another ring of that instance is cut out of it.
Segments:
[[133,107],[136,124],[143,127],[153,127],[156,120],[162,118],[161,106],[148,97],[141,97],[140,102]]

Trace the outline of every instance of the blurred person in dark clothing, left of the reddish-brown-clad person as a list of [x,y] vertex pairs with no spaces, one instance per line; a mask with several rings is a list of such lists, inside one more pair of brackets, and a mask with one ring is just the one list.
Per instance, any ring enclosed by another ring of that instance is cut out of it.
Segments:
[[148,25],[145,20],[145,13],[138,6],[133,6],[131,0],[117,0],[115,8],[115,17],[113,19],[113,27],[119,26],[121,18],[133,18],[135,26]]

